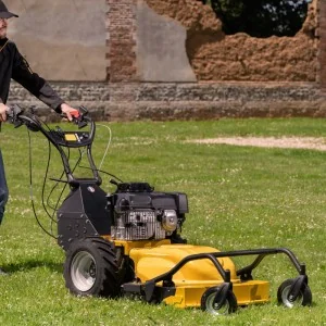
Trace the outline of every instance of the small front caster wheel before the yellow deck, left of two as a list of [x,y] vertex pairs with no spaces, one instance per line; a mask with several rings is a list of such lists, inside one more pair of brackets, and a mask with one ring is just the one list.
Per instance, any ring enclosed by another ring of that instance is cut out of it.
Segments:
[[218,287],[209,288],[201,297],[201,310],[213,315],[228,315],[234,313],[237,308],[237,298],[231,291],[227,291],[225,303],[222,306],[217,306],[214,303]]

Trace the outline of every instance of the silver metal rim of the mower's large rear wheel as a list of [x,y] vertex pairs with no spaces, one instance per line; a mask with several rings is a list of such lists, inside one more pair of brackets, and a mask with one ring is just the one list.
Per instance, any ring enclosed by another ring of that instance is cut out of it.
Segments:
[[87,251],[78,252],[72,262],[71,275],[74,286],[83,292],[90,290],[96,281],[97,266]]

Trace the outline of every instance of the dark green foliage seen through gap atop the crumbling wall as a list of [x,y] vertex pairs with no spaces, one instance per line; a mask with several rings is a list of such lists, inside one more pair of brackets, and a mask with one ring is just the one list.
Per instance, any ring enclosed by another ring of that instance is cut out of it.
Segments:
[[311,0],[211,0],[226,34],[253,37],[293,36],[302,27]]

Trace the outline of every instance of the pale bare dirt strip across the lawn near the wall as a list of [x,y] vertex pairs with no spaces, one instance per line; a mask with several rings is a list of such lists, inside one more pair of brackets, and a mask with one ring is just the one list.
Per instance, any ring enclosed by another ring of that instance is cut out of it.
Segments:
[[196,143],[225,143],[235,146],[253,146],[265,148],[298,148],[326,151],[326,139],[315,137],[218,137],[208,139],[195,139]]

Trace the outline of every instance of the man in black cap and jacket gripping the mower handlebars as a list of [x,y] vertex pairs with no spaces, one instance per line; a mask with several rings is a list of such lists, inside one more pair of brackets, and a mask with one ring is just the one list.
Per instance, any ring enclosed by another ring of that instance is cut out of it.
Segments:
[[[10,110],[5,103],[11,78],[55,112],[65,114],[68,120],[72,120],[73,115],[77,116],[78,111],[64,103],[51,86],[30,70],[15,43],[7,38],[8,21],[11,17],[17,17],[17,15],[9,12],[3,1],[0,0],[0,124],[7,120],[7,112]],[[8,188],[0,150],[0,224],[7,200]]]

